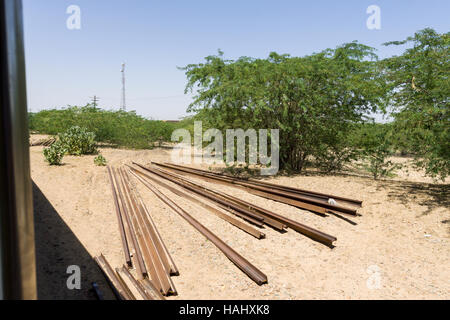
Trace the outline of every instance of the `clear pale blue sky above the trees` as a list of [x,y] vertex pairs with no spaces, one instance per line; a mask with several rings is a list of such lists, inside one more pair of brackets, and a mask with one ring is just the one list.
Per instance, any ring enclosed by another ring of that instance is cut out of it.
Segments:
[[[121,63],[127,64],[127,108],[154,119],[178,119],[191,101],[177,66],[225,52],[264,58],[271,51],[303,56],[358,40],[383,58],[383,47],[415,31],[450,31],[448,0],[23,0],[28,107],[84,105],[117,109]],[[81,29],[69,30],[70,5]],[[381,9],[381,29],[369,30],[366,9]]]

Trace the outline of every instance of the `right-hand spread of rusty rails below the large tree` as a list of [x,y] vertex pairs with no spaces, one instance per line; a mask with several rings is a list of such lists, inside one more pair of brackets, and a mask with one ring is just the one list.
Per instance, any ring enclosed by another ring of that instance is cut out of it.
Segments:
[[[145,176],[149,179],[152,179],[152,176],[157,176],[159,178],[171,181],[185,190],[195,193],[203,199],[217,204],[222,209],[246,220],[256,227],[267,225],[279,231],[284,231],[286,228],[290,228],[329,247],[333,247],[333,242],[336,241],[336,237],[306,226],[295,220],[289,219],[271,210],[259,207],[248,201],[244,201],[232,195],[205,187],[199,183],[187,179],[184,176],[193,175],[197,178],[211,181],[213,183],[224,183],[231,186],[237,186],[244,188],[246,191],[251,193],[253,193],[252,191],[258,191],[259,196],[263,193],[265,198],[283,203],[290,202],[288,203],[290,205],[295,203],[297,207],[311,210],[315,213],[320,212],[323,216],[326,216],[326,213],[331,213],[334,215],[338,215],[337,213],[356,215],[356,209],[343,207],[339,204],[333,204],[337,203],[337,201],[343,202],[345,200],[346,203],[352,203],[354,206],[361,206],[361,201],[358,200],[336,196],[331,197],[320,193],[313,193],[281,185],[268,184],[258,180],[239,179],[209,171],[183,167],[180,165],[161,164],[155,162],[153,162],[153,165],[151,166],[143,166],[135,162],[133,162],[133,164],[136,167],[139,167],[139,169],[133,167],[133,170],[139,175]],[[264,189],[264,192],[262,189]],[[283,193],[284,197],[279,196],[280,193]],[[277,196],[272,197],[274,194]],[[300,201],[300,197],[302,199],[306,199],[307,201]],[[296,198],[296,200],[293,200],[293,198]],[[341,215],[339,216],[341,217]]]

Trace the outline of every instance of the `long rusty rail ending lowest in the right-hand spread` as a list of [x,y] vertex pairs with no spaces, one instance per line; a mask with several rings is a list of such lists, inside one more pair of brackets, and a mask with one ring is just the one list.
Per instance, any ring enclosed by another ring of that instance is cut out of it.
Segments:
[[[204,191],[209,191],[209,192],[213,192],[213,195],[215,196],[215,199],[219,198],[219,197],[224,197],[226,198],[228,201],[233,202],[233,203],[237,203],[239,204],[241,207],[247,207],[247,208],[251,208],[253,210],[253,212],[256,214],[258,213],[259,215],[263,216],[265,219],[271,219],[272,221],[276,221],[280,224],[282,224],[283,226],[287,226],[305,236],[307,236],[310,239],[313,239],[315,241],[318,241],[320,243],[323,243],[324,245],[328,246],[328,247],[333,247],[333,242],[337,240],[336,237],[329,235],[327,233],[324,233],[322,231],[319,231],[317,229],[311,228],[309,226],[306,226],[302,223],[299,223],[295,220],[286,218],[284,216],[281,216],[275,212],[266,210],[264,208],[258,207],[254,204],[251,204],[247,201],[238,199],[236,197],[233,197],[231,195],[225,195],[223,193],[218,193],[216,191],[213,191],[209,188],[205,188],[201,185],[198,184],[194,184],[193,182],[190,182],[188,180],[186,180],[185,178],[182,178],[174,173],[162,170],[162,169],[152,169],[150,167],[146,167],[146,166],[142,166],[136,162],[133,162],[133,164],[141,167],[142,169],[145,169],[149,172],[155,173],[165,179],[168,179],[170,181],[174,181],[175,183],[179,182],[179,181],[184,181],[186,183],[191,183],[193,185],[196,185],[198,188],[202,188]],[[177,177],[177,179],[176,179]],[[266,220],[265,220],[266,221]]]

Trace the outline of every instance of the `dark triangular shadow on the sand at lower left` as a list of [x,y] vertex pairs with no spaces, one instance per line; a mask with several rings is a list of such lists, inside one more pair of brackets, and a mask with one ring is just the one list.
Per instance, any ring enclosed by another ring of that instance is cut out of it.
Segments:
[[[36,274],[38,299],[92,300],[91,290],[97,282],[105,299],[113,299],[104,276],[97,264],[58,212],[33,182],[33,205],[36,240]],[[81,289],[69,290],[67,267],[81,269]]]

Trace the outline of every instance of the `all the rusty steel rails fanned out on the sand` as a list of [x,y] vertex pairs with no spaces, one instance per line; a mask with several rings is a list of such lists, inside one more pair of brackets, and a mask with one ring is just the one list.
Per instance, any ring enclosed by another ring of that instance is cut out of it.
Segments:
[[[260,228],[267,225],[281,232],[284,232],[287,228],[293,229],[329,247],[333,247],[333,242],[337,240],[336,237],[230,194],[213,190],[186,178],[186,176],[242,188],[251,194],[306,209],[321,216],[332,214],[345,220],[347,219],[342,214],[356,216],[358,215],[357,207],[362,205],[359,200],[256,179],[237,178],[175,164],[153,162],[149,166],[144,166],[133,162],[126,168],[108,167],[108,172],[126,266],[116,269],[114,273],[103,256],[97,257],[96,261],[112,287],[115,288],[116,295],[123,299],[134,298],[130,294],[130,290],[124,285],[124,276],[135,285],[142,296],[145,293],[147,296],[158,299],[162,298],[162,295],[176,294],[170,276],[178,274],[178,270],[156,230],[156,226],[145,208],[134,182],[130,179],[131,175],[211,241],[227,258],[259,285],[267,283],[267,276],[192,217],[179,203],[171,199],[166,191],[202,206],[210,213],[257,239],[265,237]],[[128,270],[133,266],[136,269],[137,280]]]

